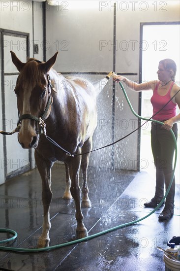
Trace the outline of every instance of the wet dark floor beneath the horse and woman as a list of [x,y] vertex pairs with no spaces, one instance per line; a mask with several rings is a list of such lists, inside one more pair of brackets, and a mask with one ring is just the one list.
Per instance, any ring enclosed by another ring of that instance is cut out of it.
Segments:
[[[55,165],[52,172],[51,243],[74,239],[75,206],[65,201],[65,171]],[[92,207],[83,208],[89,235],[134,221],[152,209],[143,203],[154,193],[154,180],[147,172],[89,169]],[[80,184],[82,179],[80,178]],[[0,186],[0,228],[18,233],[11,244],[32,248],[42,226],[41,180],[37,169],[15,177]],[[40,253],[0,252],[0,270],[13,271],[163,271],[167,241],[180,236],[180,185],[176,185],[175,215],[159,222],[162,207],[148,218],[86,242]],[[1,238],[5,235],[1,234]],[[8,244],[9,245],[9,244]]]

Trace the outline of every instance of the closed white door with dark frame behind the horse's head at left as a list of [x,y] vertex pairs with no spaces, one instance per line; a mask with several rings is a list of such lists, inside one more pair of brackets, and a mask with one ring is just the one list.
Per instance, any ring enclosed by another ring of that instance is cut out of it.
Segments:
[[[15,52],[22,62],[26,62],[29,56],[29,34],[1,29],[0,37],[2,60],[1,129],[11,132],[15,129],[18,121],[14,88],[19,73],[12,63],[10,50]],[[4,169],[6,179],[31,169],[31,151],[22,149],[18,142],[17,134],[3,135],[3,153],[4,157],[1,157],[1,170]]]

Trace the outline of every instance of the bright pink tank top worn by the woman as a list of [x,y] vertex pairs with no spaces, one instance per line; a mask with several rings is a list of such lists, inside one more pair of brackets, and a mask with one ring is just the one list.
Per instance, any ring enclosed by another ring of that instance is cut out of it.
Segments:
[[[157,113],[171,99],[171,89],[174,85],[174,82],[172,82],[168,93],[165,96],[161,96],[157,93],[159,83],[160,82],[158,82],[158,84],[156,85],[153,95],[150,99],[153,107],[153,115]],[[176,116],[176,108],[177,104],[171,101],[157,115],[155,115],[153,119],[158,121],[169,120],[172,117]]]

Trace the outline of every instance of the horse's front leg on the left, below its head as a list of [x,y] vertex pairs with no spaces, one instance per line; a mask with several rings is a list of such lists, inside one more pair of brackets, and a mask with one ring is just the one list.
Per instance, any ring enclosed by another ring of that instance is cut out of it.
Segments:
[[37,247],[48,247],[50,238],[49,238],[49,231],[51,228],[50,222],[50,203],[52,200],[52,191],[51,191],[51,168],[53,163],[42,158],[40,154],[35,150],[35,162],[37,165],[37,169],[41,175],[42,179],[42,202],[43,202],[43,209],[44,209],[44,218],[43,218],[43,225],[42,225],[42,234],[38,239]]

